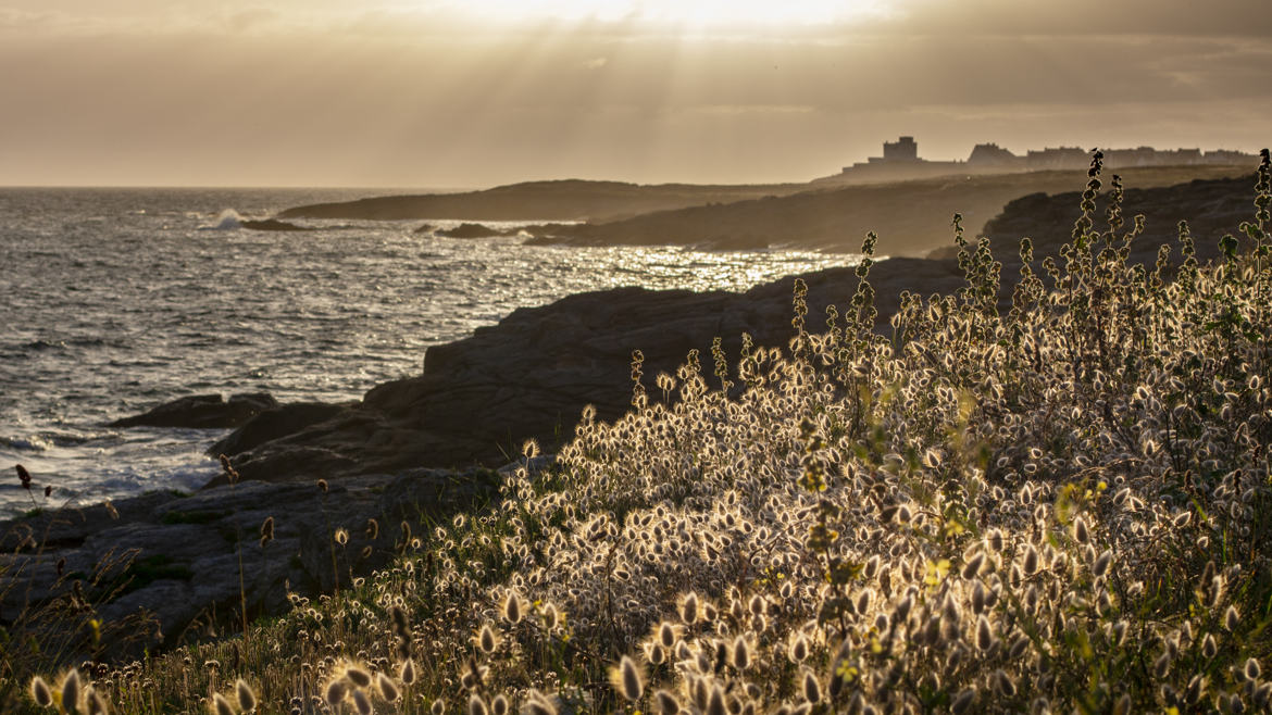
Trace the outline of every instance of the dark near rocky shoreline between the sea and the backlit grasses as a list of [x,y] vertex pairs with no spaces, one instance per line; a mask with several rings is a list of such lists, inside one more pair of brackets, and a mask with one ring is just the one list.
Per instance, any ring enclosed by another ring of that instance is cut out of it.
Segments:
[[[1159,239],[1173,243],[1177,215],[1192,221],[1198,258],[1213,257],[1217,237],[1235,233],[1253,212],[1250,186],[1219,179],[1128,191],[1128,223],[1130,214],[1142,211],[1150,226],[1132,244],[1130,260],[1151,265]],[[1076,205],[1076,193],[1027,196],[988,223],[1004,262],[1006,300],[1020,267],[1019,238],[1034,238],[1039,262],[1057,254]],[[1178,258],[1178,249],[1173,254]],[[842,312],[857,288],[852,267],[800,277],[809,288],[813,330],[827,305]],[[347,585],[392,559],[404,541],[403,522],[410,527],[422,518],[446,518],[492,499],[497,469],[515,468],[513,455],[524,440],[551,450],[572,435],[588,405],[603,420],[625,412],[633,350],[644,352],[646,387],[658,398],[654,377],[674,373],[689,350],[709,364],[717,336],[730,361],[743,333],[758,345],[786,345],[794,281],[789,276],[740,294],[625,288],[572,295],[431,347],[418,377],[378,385],[357,402],[279,405],[259,394],[228,402],[196,396],[121,420],[237,425],[210,452],[226,454],[240,481],[230,485],[221,475],[190,496],[150,494],[0,523],[0,623],[59,599],[97,598],[97,617],[126,622],[150,613],[158,631],[137,642],[170,645],[210,611],[238,608],[240,547],[252,614],[285,608],[289,590],[314,595],[329,593],[337,580]],[[889,332],[904,291],[949,294],[963,281],[953,257],[878,262],[870,272],[878,327]],[[258,545],[270,517],[273,538]],[[369,529],[371,519],[378,528]],[[333,546],[335,529],[347,531],[346,545]],[[99,564],[112,560],[123,564],[117,574],[123,580],[94,576]]]

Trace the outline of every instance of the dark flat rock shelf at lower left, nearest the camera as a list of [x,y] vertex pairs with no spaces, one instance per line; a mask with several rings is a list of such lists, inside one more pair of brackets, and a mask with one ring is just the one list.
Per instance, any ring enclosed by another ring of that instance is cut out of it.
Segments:
[[[541,459],[532,471],[543,467]],[[112,639],[109,655],[172,645],[192,623],[212,622],[212,613],[234,621],[240,557],[248,614],[279,613],[289,589],[331,593],[384,566],[408,547],[403,520],[420,533],[421,523],[485,504],[497,482],[496,472],[482,469],[368,475],[326,491],[314,480],[240,482],[0,522],[0,625],[31,627],[42,609],[70,603],[107,626],[149,623]],[[273,538],[262,543],[270,517]],[[336,529],[347,532],[347,543],[336,543]]]

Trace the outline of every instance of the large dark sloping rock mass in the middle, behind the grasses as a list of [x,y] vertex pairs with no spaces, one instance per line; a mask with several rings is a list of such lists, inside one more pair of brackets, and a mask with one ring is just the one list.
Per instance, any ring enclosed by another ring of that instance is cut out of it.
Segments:
[[[804,280],[814,326],[826,305],[846,305],[857,285],[851,267]],[[871,282],[880,324],[903,289],[950,290],[960,281],[948,261],[878,263]],[[626,411],[633,350],[645,355],[654,392],[655,375],[674,373],[691,349],[710,363],[716,336],[734,358],[743,332],[759,345],[785,345],[792,284],[787,277],[743,294],[625,288],[519,309],[466,340],[430,347],[418,377],[378,385],[355,406],[242,452],[230,448],[245,444],[235,433],[224,452],[244,480],[262,481],[502,463],[525,439],[550,447],[569,438],[586,405],[607,420]]]

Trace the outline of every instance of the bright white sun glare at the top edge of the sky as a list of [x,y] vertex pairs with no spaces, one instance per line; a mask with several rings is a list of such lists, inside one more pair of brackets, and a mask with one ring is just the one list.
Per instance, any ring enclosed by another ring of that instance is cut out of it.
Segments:
[[469,15],[491,20],[621,22],[712,28],[823,25],[887,14],[883,0],[466,0]]

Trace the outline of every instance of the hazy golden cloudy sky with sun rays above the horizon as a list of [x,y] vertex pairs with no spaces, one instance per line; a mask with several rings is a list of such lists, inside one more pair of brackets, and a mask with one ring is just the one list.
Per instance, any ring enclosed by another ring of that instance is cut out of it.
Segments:
[[1272,144],[1268,0],[0,0],[0,184],[806,181]]

